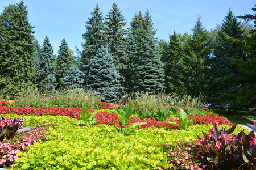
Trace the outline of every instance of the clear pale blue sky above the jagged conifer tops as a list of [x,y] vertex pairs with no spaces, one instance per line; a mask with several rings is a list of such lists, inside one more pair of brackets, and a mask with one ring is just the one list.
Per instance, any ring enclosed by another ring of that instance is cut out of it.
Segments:
[[[20,0],[1,0],[0,12],[3,7],[18,2]],[[35,38],[42,46],[48,36],[55,54],[63,38],[70,49],[75,50],[76,45],[81,50],[81,43],[84,43],[82,33],[86,32],[85,21],[91,17],[90,12],[98,3],[105,16],[114,2],[122,11],[128,27],[135,13],[142,11],[144,14],[149,10],[157,29],[156,37],[164,40],[168,40],[174,30],[181,34],[191,33],[198,16],[210,30],[222,23],[229,8],[235,16],[253,14],[251,8],[256,4],[255,0],[24,0],[30,24],[35,26]]]

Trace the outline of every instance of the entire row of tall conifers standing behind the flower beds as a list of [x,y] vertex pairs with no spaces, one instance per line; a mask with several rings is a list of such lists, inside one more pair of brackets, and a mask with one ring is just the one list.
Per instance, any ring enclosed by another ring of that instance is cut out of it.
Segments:
[[0,14],[0,89],[8,94],[28,87],[92,88],[108,102],[137,91],[203,95],[229,111],[254,107],[256,8],[252,10],[254,14],[234,16],[229,9],[223,23],[210,31],[199,17],[191,35],[173,31],[165,41],[155,37],[148,10],[127,24],[116,3],[105,15],[96,5],[85,20],[82,50],[75,56],[65,39],[57,55],[47,36],[39,44],[21,1]]

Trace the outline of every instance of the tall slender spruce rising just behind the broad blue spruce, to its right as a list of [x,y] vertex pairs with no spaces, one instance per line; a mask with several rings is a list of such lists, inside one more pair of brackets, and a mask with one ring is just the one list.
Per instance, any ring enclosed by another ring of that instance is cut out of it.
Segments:
[[119,86],[121,92],[127,90],[127,70],[129,69],[129,57],[126,54],[126,22],[125,18],[121,14],[122,11],[117,7],[116,3],[113,3],[112,9],[109,15],[106,15],[106,37],[108,48],[110,49],[110,57],[113,58],[115,68],[117,69],[117,79],[121,86]]

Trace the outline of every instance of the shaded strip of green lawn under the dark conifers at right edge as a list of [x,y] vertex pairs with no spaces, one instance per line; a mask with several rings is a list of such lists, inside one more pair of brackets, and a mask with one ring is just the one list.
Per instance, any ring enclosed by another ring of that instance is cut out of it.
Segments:
[[[237,111],[236,114],[226,114],[224,112],[221,112],[218,109],[213,110],[214,113],[218,113],[220,116],[224,116],[228,118],[228,120],[232,123],[238,123],[242,125],[246,125],[249,123],[249,119],[256,120],[256,112],[249,112],[249,111]],[[232,111],[233,112],[233,111]]]

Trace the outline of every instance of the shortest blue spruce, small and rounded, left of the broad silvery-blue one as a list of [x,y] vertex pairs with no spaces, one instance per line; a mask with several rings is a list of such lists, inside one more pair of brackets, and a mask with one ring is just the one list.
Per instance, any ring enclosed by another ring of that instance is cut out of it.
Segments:
[[72,65],[68,74],[65,75],[62,86],[68,88],[82,88],[84,84],[85,74],[79,70],[79,67]]

